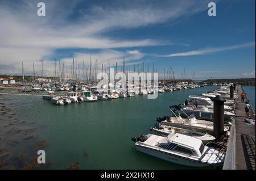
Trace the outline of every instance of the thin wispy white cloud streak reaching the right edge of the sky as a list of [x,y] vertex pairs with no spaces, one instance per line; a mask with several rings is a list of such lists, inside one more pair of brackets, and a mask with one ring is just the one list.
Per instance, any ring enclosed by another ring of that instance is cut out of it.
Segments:
[[172,54],[167,54],[167,55],[154,55],[154,56],[156,56],[156,57],[195,56],[195,55],[211,54],[211,53],[223,52],[223,51],[227,51],[227,50],[234,50],[234,49],[240,49],[240,48],[246,48],[246,47],[255,47],[255,41],[250,42],[250,43],[228,46],[228,47],[204,48],[204,49],[199,49],[199,50],[192,50],[189,52],[172,53]]

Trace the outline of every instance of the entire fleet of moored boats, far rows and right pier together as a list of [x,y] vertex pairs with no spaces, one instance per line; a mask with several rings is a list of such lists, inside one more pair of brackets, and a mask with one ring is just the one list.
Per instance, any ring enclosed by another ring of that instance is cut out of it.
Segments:
[[[133,91],[122,91],[121,89],[112,89],[112,91],[102,89],[108,86],[101,86],[98,89],[93,85],[33,85],[30,91],[47,91],[43,99],[49,99],[53,104],[64,105],[80,102],[95,102],[97,100],[109,100],[117,98],[126,98],[136,95],[147,95],[194,89],[204,85],[189,85],[186,82],[174,85],[161,85],[154,89],[141,90],[139,87],[133,87]],[[150,86],[151,87],[151,86]],[[65,96],[58,96],[58,91],[69,91]],[[100,90],[100,91],[99,91]],[[20,91],[27,91],[20,89]],[[170,106],[172,117],[164,116],[158,118],[154,128],[150,128],[155,134],[141,134],[139,137],[133,137],[135,147],[138,151],[164,159],[169,162],[178,163],[187,166],[220,166],[225,160],[226,148],[216,141],[213,136],[213,99],[217,95],[223,98],[229,98],[229,85],[203,93],[200,95],[190,95],[187,104]],[[234,92],[234,97],[237,98]],[[198,105],[195,107],[193,101],[197,99]],[[234,101],[228,99],[224,106],[224,131],[229,136],[230,122],[234,116]]]

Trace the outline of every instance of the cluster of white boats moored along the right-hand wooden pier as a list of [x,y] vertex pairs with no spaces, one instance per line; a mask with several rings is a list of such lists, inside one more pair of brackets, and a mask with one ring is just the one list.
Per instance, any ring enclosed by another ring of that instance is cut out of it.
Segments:
[[[195,167],[221,166],[226,146],[213,136],[213,103],[210,98],[219,94],[229,98],[229,93],[229,85],[226,85],[203,96],[191,95],[189,99],[192,100],[187,105],[170,106],[172,117],[157,118],[155,127],[150,128],[153,133],[141,134],[131,140],[135,141],[138,151],[169,162]],[[197,107],[193,106],[195,99],[199,100]],[[224,132],[229,137],[230,121],[234,116],[232,99],[226,101],[225,110]]]

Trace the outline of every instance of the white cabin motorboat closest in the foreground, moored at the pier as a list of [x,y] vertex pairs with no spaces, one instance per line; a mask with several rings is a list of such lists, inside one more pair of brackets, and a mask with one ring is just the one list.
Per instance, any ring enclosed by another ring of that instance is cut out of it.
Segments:
[[226,148],[210,148],[195,137],[170,134],[167,137],[154,134],[131,138],[138,151],[180,165],[204,167],[223,165]]

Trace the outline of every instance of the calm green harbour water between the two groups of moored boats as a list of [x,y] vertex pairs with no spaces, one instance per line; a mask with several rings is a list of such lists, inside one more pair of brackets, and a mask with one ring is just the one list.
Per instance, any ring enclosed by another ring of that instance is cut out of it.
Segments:
[[166,92],[157,99],[138,95],[66,106],[53,105],[40,96],[5,98],[19,119],[35,121],[36,134],[48,142],[44,150],[46,159],[53,161],[50,169],[67,169],[75,162],[80,169],[191,169],[136,151],[130,138],[149,133],[156,117],[170,115],[168,106],[216,88]]

